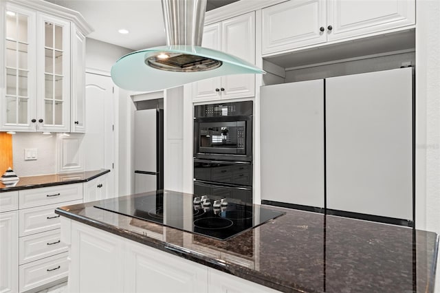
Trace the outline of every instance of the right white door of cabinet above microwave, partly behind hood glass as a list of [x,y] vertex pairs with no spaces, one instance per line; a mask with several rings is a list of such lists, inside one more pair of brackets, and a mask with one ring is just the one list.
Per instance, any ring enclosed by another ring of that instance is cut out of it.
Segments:
[[[221,22],[221,51],[255,64],[255,13]],[[255,74],[221,77],[221,98],[255,96]]]

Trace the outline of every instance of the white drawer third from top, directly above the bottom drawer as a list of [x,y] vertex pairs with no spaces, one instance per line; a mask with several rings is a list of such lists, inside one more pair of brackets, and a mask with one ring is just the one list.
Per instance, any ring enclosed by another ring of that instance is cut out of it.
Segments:
[[61,242],[60,239],[60,229],[20,237],[20,264],[67,251],[67,244]]

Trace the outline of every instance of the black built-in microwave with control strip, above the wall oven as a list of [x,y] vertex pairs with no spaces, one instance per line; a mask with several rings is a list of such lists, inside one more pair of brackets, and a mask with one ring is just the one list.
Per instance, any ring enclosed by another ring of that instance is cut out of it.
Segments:
[[195,106],[194,157],[252,161],[252,101]]

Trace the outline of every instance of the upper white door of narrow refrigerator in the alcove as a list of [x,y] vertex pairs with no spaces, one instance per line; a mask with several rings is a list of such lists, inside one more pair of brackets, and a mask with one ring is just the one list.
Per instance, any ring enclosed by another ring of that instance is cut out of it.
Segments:
[[157,172],[157,110],[135,111],[135,171]]

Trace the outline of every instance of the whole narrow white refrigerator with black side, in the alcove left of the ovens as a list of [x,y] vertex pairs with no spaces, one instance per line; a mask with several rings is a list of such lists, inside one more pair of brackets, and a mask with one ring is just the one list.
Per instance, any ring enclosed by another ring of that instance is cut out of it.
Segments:
[[164,188],[164,111],[135,111],[135,193]]

